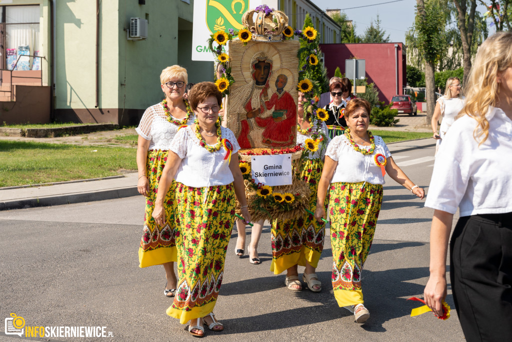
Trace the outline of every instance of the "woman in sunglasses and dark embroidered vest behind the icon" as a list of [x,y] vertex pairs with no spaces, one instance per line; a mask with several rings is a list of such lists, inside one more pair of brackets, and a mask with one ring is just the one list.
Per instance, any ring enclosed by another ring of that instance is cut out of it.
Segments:
[[332,139],[337,135],[342,135],[347,127],[347,122],[343,112],[347,107],[348,102],[356,98],[352,94],[352,83],[350,79],[344,77],[339,82],[334,82],[329,86],[331,92],[331,103],[324,107],[329,114],[326,121],[327,128],[329,129],[329,137]]

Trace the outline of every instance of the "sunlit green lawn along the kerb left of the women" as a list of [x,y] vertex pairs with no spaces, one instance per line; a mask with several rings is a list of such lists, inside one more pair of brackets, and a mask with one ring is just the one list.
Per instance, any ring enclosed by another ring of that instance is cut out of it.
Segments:
[[[97,152],[91,152],[97,150]],[[62,182],[137,170],[136,150],[0,140],[0,187]]]

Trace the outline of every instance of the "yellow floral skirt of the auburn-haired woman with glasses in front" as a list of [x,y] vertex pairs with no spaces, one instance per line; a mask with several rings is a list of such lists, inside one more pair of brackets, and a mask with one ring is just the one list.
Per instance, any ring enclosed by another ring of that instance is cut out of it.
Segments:
[[234,187],[177,183],[176,202],[179,281],[167,314],[186,324],[214,310],[234,224]]

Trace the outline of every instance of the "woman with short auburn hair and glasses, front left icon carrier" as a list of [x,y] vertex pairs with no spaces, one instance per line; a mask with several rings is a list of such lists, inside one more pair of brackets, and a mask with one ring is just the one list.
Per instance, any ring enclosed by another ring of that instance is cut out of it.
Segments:
[[250,215],[238,165],[240,146],[233,132],[217,120],[220,91],[214,83],[202,82],[188,98],[197,119],[180,129],[170,144],[153,217],[159,225],[165,224],[164,197],[175,178],[180,281],[167,314],[181,324],[190,321],[188,331],[203,336],[203,324],[213,331],[224,329],[212,311],[224,275],[235,194],[247,223]]

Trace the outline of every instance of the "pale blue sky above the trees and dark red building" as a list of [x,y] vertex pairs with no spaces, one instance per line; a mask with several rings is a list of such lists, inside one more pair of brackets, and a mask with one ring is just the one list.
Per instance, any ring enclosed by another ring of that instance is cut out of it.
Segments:
[[[323,10],[332,8],[346,9],[343,12],[347,13],[348,19],[355,23],[357,35],[364,34],[366,28],[370,26],[372,19],[375,22],[377,14],[379,14],[380,26],[386,30],[386,34],[389,34],[390,41],[394,43],[405,43],[406,32],[414,23],[416,0],[401,0],[388,4],[360,7],[389,1],[393,0],[360,0],[357,2],[312,0],[316,6]],[[360,8],[349,9],[358,6]],[[480,13],[485,12],[482,5],[478,5],[477,10],[479,10]],[[490,33],[494,33],[493,28],[489,28],[489,34]]]

